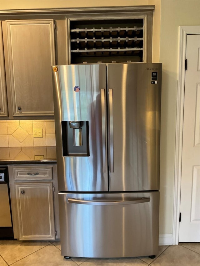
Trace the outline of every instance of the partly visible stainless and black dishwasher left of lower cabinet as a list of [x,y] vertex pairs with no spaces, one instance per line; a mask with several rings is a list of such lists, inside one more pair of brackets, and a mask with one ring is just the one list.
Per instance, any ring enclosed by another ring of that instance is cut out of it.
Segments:
[[13,239],[8,167],[0,167],[0,239]]

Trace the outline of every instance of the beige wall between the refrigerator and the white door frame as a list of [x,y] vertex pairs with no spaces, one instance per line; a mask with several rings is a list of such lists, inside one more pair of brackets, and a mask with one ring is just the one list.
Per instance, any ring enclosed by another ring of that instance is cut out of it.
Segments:
[[178,27],[200,25],[200,1],[161,1],[160,62],[163,63],[161,110],[160,234],[172,234],[178,80]]

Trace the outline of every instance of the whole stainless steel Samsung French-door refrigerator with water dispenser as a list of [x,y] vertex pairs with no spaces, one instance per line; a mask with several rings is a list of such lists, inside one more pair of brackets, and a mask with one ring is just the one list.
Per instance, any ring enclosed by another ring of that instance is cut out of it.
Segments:
[[162,64],[52,71],[61,254],[156,255]]

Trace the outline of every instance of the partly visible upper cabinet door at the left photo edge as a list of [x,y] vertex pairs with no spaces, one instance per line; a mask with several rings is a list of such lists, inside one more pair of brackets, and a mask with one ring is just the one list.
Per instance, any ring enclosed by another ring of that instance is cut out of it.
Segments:
[[0,116],[1,117],[8,116],[1,21],[0,21]]

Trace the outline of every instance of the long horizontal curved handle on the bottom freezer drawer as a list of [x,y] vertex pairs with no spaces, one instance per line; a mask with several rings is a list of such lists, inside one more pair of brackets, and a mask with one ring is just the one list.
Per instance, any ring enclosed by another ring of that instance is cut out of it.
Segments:
[[150,201],[150,197],[144,197],[129,201],[87,201],[87,200],[77,200],[73,198],[68,198],[68,203],[76,204],[87,204],[87,205],[127,205],[127,204],[138,204]]

